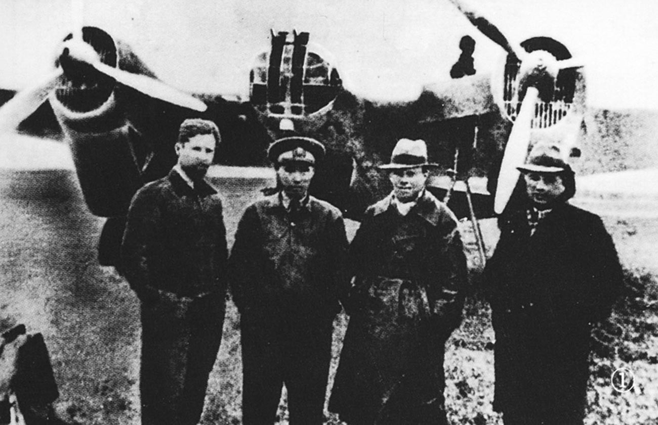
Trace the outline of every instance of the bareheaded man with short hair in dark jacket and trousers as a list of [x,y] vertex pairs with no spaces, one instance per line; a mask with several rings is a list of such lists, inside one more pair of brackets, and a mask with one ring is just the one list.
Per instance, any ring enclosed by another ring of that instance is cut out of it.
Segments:
[[180,125],[170,173],[138,190],[123,271],[141,301],[141,423],[195,425],[224,322],[226,229],[203,178],[220,142],[215,123]]

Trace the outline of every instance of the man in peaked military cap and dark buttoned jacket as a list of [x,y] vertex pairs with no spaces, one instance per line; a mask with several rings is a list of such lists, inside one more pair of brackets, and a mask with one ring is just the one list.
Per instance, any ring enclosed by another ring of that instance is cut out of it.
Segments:
[[343,217],[309,195],[324,146],[307,137],[270,145],[278,192],[242,216],[229,259],[240,310],[242,423],[272,424],[282,385],[291,425],[323,423],[332,323],[347,280]]

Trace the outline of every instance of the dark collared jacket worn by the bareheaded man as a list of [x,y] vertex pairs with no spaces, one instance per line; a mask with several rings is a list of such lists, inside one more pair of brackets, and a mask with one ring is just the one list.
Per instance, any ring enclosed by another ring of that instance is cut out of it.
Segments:
[[222,201],[204,181],[192,189],[178,171],[138,190],[122,244],[122,266],[140,298],[226,291]]

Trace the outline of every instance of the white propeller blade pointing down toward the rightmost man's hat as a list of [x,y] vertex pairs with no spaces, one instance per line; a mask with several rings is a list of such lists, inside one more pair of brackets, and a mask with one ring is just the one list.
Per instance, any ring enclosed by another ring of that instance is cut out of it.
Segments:
[[505,206],[507,206],[507,202],[517,186],[520,175],[517,167],[523,164],[528,154],[530,125],[532,124],[532,118],[534,118],[534,109],[538,97],[539,90],[536,87],[528,87],[526,96],[521,102],[519,115],[509,134],[509,140],[503,154],[503,162],[501,162],[498,174],[495,198],[493,199],[493,211],[497,214],[505,210]]

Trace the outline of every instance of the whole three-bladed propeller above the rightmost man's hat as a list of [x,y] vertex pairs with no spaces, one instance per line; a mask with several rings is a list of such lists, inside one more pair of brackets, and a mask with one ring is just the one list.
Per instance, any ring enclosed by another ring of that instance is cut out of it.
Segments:
[[579,68],[583,64],[574,58],[557,60],[555,56],[547,51],[526,52],[520,45],[509,43],[507,37],[503,35],[497,26],[482,16],[476,9],[467,5],[465,0],[450,1],[482,34],[502,47],[509,55],[515,56],[520,62],[517,95],[519,100],[522,99],[522,103],[507,145],[505,145],[493,201],[494,212],[500,214],[505,210],[505,206],[507,206],[507,202],[517,185],[519,179],[517,167],[523,164],[528,153],[530,127],[537,101],[540,99],[542,101],[551,100],[553,96],[552,87],[560,70]]

